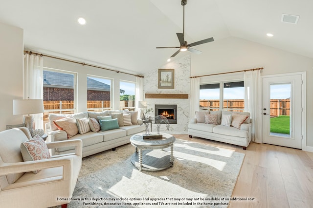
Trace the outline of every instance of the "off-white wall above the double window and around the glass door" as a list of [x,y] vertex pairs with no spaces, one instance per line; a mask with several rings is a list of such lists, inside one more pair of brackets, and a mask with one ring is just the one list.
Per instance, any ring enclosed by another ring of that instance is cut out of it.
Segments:
[[[225,38],[200,45],[192,55],[191,76],[264,67],[261,75],[307,72],[307,146],[313,147],[313,58],[303,57],[240,38]],[[236,74],[230,74],[234,77]],[[228,75],[228,76],[230,76]],[[203,77],[202,81],[211,79]],[[221,76],[218,77],[221,79]]]

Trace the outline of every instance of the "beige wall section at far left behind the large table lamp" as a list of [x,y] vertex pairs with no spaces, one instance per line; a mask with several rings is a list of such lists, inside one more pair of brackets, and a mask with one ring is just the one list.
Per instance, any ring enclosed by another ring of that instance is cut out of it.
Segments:
[[0,131],[6,125],[22,124],[13,115],[13,99],[22,99],[23,30],[0,22]]

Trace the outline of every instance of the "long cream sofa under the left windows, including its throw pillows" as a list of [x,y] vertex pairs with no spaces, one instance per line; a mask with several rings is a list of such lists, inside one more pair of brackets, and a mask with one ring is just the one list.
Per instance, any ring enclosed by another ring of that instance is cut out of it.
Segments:
[[[50,113],[45,132],[48,141],[82,140],[83,157],[86,157],[130,143],[132,135],[144,131],[144,125],[140,125],[137,115],[137,112],[132,111],[82,112],[70,115]],[[100,129],[96,128],[97,125],[100,125]],[[78,129],[78,132],[72,131],[74,129]],[[57,148],[52,151],[52,155],[72,151],[71,147]]]

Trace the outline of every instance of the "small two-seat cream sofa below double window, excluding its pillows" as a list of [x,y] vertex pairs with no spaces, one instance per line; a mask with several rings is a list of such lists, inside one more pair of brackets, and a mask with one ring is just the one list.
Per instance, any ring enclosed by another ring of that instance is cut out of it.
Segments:
[[[210,114],[218,114],[217,124],[205,124],[203,122],[203,113],[209,112],[196,112],[196,118],[190,120],[188,125],[188,134],[205,139],[225,142],[229,144],[242,146],[244,150],[248,147],[251,141],[251,128],[250,113],[248,112],[229,112],[229,111],[210,111]],[[223,115],[238,113],[241,115],[248,115],[240,128],[233,126],[227,127],[222,125]],[[201,120],[201,121],[199,121]]]

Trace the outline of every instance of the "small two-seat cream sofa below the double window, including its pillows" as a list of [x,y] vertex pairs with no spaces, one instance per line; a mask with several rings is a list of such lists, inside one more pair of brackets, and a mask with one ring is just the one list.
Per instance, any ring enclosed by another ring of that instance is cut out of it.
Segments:
[[188,125],[188,134],[205,139],[242,146],[251,141],[250,113],[229,111],[200,111]]

